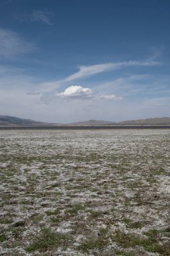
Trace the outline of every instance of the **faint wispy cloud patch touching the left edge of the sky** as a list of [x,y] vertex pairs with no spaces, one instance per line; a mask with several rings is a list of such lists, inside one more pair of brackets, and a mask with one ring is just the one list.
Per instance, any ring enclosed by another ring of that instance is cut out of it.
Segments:
[[29,53],[35,48],[34,44],[26,42],[19,34],[0,28],[0,56],[12,58],[23,53]]

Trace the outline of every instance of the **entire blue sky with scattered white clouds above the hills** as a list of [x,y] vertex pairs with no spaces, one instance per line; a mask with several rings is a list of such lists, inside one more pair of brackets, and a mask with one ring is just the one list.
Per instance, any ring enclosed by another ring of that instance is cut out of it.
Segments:
[[170,117],[169,0],[0,0],[0,115]]

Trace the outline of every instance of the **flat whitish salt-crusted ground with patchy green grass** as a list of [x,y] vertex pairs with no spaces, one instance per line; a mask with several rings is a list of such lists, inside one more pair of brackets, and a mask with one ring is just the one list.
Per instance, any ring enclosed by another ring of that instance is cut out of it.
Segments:
[[170,129],[0,131],[0,255],[170,255]]

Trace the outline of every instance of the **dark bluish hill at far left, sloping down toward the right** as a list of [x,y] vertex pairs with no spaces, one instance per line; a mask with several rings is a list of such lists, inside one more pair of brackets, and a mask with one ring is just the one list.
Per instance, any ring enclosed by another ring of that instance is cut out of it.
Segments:
[[9,117],[0,115],[0,126],[47,126],[52,123],[43,123],[31,119],[21,119],[19,117]]

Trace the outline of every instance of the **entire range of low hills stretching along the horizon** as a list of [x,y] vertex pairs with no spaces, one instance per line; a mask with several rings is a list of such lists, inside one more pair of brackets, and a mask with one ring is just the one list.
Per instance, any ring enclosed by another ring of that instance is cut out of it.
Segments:
[[79,121],[77,123],[44,123],[32,119],[21,119],[19,117],[10,117],[0,115],[0,127],[43,127],[43,126],[93,126],[93,125],[170,125],[170,117],[157,117],[151,119],[128,120],[121,122],[114,121]]

